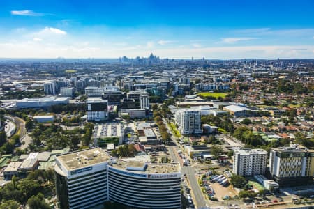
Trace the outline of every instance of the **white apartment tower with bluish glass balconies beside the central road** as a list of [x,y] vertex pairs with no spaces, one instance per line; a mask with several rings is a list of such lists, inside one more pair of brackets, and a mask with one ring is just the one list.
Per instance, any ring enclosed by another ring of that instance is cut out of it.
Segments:
[[194,109],[179,109],[175,114],[182,134],[201,134],[201,112]]

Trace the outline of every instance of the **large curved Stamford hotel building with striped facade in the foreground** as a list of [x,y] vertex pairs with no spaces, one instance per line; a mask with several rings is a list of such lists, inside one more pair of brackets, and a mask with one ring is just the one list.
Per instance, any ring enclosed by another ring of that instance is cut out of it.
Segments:
[[149,160],[147,156],[114,160],[100,148],[57,155],[60,207],[92,208],[109,200],[132,208],[181,208],[179,164]]

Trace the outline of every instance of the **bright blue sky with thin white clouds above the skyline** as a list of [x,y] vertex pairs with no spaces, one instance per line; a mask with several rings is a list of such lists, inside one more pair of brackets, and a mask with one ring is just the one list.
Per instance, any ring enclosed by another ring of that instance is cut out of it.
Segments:
[[313,0],[1,0],[0,58],[314,59]]

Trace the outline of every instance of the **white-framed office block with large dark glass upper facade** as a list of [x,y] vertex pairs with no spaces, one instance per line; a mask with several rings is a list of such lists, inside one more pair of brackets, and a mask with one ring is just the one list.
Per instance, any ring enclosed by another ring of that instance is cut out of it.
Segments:
[[87,101],[87,121],[104,121],[108,118],[108,100],[102,98],[88,98]]

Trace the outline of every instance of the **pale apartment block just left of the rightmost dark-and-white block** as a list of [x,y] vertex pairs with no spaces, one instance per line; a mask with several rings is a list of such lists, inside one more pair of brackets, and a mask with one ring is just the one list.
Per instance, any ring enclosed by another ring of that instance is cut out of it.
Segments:
[[240,176],[264,174],[267,164],[267,151],[262,149],[241,149],[233,153],[233,173]]

